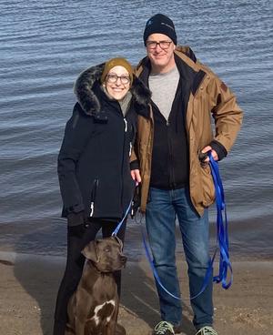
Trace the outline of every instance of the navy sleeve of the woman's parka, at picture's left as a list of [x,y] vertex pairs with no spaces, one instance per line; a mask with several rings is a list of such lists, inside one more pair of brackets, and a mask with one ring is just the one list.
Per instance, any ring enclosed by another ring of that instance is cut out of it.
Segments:
[[85,209],[76,180],[76,164],[92,134],[92,118],[83,114],[78,104],[66,123],[65,136],[58,155],[57,173],[63,199],[63,217]]

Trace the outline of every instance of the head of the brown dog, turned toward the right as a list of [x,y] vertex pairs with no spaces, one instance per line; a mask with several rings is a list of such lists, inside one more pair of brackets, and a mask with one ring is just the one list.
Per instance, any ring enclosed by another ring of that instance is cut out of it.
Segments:
[[113,272],[126,265],[126,256],[122,253],[122,247],[122,241],[112,236],[91,241],[82,253],[100,272]]

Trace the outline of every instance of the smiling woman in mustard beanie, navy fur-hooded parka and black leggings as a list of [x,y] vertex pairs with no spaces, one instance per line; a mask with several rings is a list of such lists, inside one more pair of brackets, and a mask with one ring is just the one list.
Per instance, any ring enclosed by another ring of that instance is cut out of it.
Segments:
[[[111,236],[125,216],[135,181],[129,159],[137,114],[147,114],[149,91],[125,58],[88,68],[76,80],[77,102],[66,124],[58,177],[67,218],[67,262],[56,300],[54,335],[65,334],[69,298],[81,278],[81,255],[102,228]],[[124,241],[126,224],[117,236]],[[120,271],[116,273],[120,295]]]

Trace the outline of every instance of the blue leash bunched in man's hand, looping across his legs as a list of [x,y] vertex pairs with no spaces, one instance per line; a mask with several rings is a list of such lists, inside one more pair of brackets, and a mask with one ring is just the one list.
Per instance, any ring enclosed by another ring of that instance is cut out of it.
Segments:
[[[233,275],[232,275],[232,267],[231,267],[231,263],[229,260],[229,252],[228,252],[227,208],[225,204],[224,188],[223,188],[222,180],[220,178],[217,162],[213,159],[211,151],[207,153],[207,157],[209,158],[208,164],[211,169],[211,174],[212,174],[212,178],[214,181],[215,192],[216,192],[217,244],[218,244],[218,249],[220,253],[219,254],[219,273],[217,276],[213,277],[213,281],[217,283],[221,282],[223,289],[228,289],[232,284]],[[223,214],[222,214],[223,211],[225,213],[224,220],[223,220]],[[144,232],[143,225],[141,224],[141,221],[140,221],[140,227],[141,227],[141,233],[142,233],[142,241],[143,241],[144,249],[147,255],[147,259],[151,266],[151,269],[153,270],[153,274],[154,274],[155,279],[157,280],[158,285],[161,287],[161,289],[164,289],[167,292],[167,294],[169,294],[174,299],[181,299],[180,297],[177,297],[171,292],[169,292],[165,288],[165,286],[162,284],[157,274],[157,269],[155,267],[154,260],[152,259],[149,249],[147,247],[147,242],[145,239],[145,232]],[[196,299],[206,289],[209,279],[211,275],[213,274],[213,263],[216,258],[216,254],[217,254],[217,249],[215,250],[213,257],[209,260],[208,268],[207,268],[207,272],[205,275],[205,279],[203,281],[202,288],[195,296],[190,297],[191,300]],[[229,281],[227,281],[228,269],[230,270]]]

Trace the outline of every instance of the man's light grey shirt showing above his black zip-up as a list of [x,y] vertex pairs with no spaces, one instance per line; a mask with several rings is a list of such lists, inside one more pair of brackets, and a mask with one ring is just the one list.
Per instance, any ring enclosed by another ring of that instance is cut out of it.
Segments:
[[157,105],[160,113],[168,119],[179,82],[177,66],[164,74],[151,74],[149,76],[149,88],[152,92],[152,100]]

